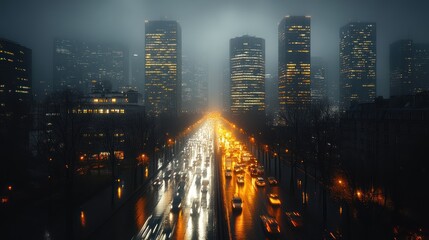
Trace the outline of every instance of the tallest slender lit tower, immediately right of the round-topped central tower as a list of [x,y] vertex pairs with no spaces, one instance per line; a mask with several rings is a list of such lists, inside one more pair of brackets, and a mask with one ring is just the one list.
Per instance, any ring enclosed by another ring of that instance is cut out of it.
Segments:
[[280,112],[311,103],[310,24],[309,16],[286,16],[279,24]]

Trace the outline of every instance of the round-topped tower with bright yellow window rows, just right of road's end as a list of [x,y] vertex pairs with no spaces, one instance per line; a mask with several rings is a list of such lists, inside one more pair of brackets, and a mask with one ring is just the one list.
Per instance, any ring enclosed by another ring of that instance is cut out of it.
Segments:
[[265,40],[248,35],[230,40],[231,113],[265,112]]

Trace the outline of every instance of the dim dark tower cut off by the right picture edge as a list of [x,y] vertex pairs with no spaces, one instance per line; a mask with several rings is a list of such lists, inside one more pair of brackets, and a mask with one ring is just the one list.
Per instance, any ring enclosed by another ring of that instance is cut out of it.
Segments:
[[414,93],[429,91],[429,44],[414,44]]

